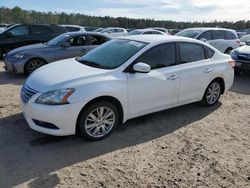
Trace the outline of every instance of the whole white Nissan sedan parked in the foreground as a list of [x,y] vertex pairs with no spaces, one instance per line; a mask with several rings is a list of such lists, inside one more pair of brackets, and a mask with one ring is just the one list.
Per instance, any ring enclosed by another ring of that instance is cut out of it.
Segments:
[[195,39],[127,36],[39,68],[23,85],[21,104],[36,131],[99,140],[134,117],[216,104],[233,83],[233,68],[230,56]]

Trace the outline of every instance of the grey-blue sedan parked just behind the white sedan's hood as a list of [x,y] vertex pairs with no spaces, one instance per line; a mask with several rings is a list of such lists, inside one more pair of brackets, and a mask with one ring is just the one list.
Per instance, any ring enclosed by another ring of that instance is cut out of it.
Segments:
[[10,51],[4,56],[5,69],[29,75],[47,63],[82,56],[110,39],[110,36],[94,32],[64,33],[48,43],[28,45]]

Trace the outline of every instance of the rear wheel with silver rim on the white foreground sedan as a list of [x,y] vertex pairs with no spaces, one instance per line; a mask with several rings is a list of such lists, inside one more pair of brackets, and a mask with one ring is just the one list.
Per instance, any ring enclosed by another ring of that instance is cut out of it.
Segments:
[[203,98],[202,98],[202,104],[204,106],[214,106],[218,100],[220,99],[220,96],[221,96],[221,91],[222,91],[222,85],[221,85],[221,82],[219,80],[214,80],[212,81],[204,95],[203,95]]

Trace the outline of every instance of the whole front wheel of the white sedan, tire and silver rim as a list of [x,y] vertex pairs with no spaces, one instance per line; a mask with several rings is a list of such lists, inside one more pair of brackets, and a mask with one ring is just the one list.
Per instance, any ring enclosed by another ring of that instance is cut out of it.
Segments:
[[104,139],[118,125],[119,117],[117,107],[111,102],[96,102],[84,109],[80,114],[78,119],[78,134],[93,141]]

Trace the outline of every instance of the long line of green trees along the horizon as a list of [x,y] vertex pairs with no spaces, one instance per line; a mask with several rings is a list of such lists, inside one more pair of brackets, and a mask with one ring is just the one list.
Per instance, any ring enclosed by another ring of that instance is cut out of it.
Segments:
[[123,28],[148,28],[164,27],[167,29],[184,29],[190,27],[225,27],[236,30],[249,29],[250,20],[213,21],[213,22],[176,22],[171,20],[133,19],[126,17],[100,17],[79,13],[65,12],[39,12],[35,10],[23,10],[20,7],[12,9],[0,8],[0,23],[42,23],[42,24],[74,24],[94,27],[123,27]]

